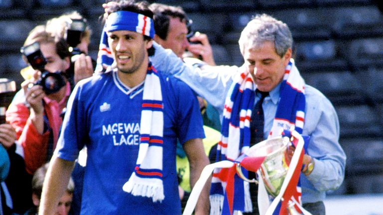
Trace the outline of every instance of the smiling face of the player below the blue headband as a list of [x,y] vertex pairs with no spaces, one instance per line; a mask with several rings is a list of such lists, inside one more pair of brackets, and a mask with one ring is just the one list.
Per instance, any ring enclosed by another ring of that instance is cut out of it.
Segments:
[[108,43],[118,70],[127,74],[143,67],[145,58],[148,58],[147,49],[152,47],[152,41],[144,40],[142,34],[128,30],[108,32]]

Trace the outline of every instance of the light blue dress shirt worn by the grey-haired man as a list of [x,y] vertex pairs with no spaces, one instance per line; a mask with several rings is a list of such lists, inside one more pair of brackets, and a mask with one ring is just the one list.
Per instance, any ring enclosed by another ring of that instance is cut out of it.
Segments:
[[[154,43],[154,67],[181,79],[199,96],[214,106],[222,119],[223,107],[233,78],[244,67],[204,66],[203,69],[185,65],[171,50]],[[267,138],[279,101],[280,85],[263,101],[265,114],[264,137]],[[307,153],[315,167],[309,176],[301,174],[302,202],[323,201],[326,191],[338,189],[344,179],[346,155],[339,144],[339,120],[331,102],[317,89],[306,85],[306,111],[303,135],[310,136]],[[258,99],[255,99],[257,102]]]

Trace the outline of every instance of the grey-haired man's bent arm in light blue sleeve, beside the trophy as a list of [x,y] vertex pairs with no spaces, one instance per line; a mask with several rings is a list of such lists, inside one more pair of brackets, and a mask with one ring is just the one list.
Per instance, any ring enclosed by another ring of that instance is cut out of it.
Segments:
[[[339,144],[339,120],[328,99],[314,104],[308,105],[305,121],[312,129],[307,151],[315,165],[306,177],[318,191],[335,190],[343,182],[346,165],[346,155]],[[314,113],[315,109],[318,113]]]

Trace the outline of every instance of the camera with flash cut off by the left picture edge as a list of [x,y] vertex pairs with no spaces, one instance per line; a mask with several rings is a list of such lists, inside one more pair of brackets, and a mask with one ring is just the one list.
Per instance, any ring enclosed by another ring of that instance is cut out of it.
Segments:
[[16,91],[16,83],[6,78],[0,78],[0,124],[5,123],[5,111]]

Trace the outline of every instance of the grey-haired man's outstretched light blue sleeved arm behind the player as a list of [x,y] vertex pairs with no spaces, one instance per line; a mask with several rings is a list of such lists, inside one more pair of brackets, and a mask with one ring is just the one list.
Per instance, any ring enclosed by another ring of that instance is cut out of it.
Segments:
[[151,61],[157,70],[182,80],[214,108],[223,109],[224,98],[238,67],[203,66],[203,69],[189,67],[170,49],[165,50],[155,42],[153,46],[156,51]]

